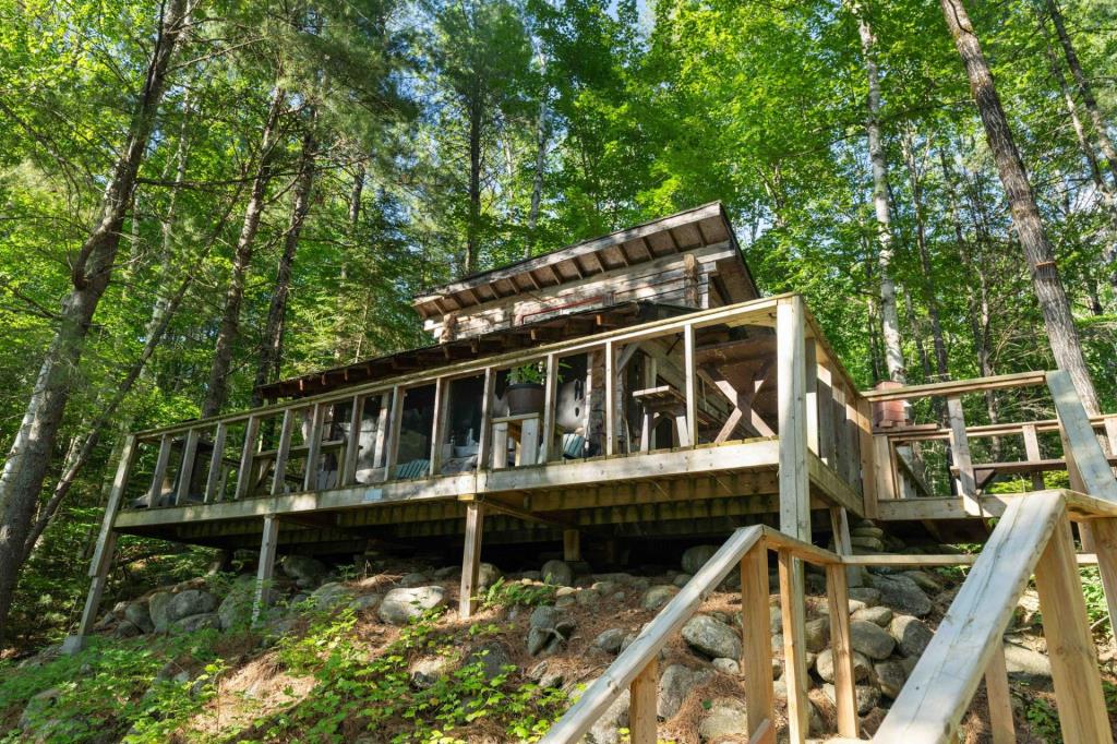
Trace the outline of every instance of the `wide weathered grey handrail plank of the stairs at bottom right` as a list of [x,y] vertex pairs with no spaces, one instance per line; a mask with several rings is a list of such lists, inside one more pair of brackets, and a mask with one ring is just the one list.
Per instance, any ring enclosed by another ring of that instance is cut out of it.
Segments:
[[955,734],[1032,569],[1065,515],[1058,492],[1009,504],[876,741],[938,743]]

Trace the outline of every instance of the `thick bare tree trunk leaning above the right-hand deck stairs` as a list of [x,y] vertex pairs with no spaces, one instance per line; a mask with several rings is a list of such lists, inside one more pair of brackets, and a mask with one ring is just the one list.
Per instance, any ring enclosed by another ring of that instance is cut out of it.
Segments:
[[1012,221],[1032,269],[1032,285],[1043,313],[1056,364],[1070,374],[1086,410],[1096,414],[1099,410],[1098,395],[1086,368],[1078,328],[1075,327],[1075,318],[1070,312],[1070,302],[1059,278],[1054,252],[1043,231],[1035,197],[1013,141],[1009,120],[1001,106],[993,76],[982,54],[981,42],[962,0],[941,0],[941,2],[951,36],[954,37],[954,44],[965,63],[970,88],[985,126],[990,150],[1012,211]]

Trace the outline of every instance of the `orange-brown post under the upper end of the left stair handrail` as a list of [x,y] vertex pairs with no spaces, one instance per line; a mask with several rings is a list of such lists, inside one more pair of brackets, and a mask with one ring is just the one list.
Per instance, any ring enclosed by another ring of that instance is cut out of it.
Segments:
[[748,741],[772,718],[772,619],[768,614],[767,549],[753,546],[741,560],[741,670],[748,709]]

